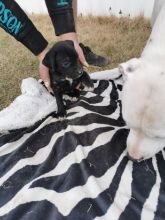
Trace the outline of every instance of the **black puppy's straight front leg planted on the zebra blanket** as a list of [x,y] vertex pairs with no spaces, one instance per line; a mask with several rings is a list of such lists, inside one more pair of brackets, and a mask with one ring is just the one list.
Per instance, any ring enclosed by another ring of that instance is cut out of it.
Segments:
[[56,98],[56,102],[57,102],[57,116],[58,117],[64,117],[66,116],[66,107],[63,103],[63,99],[62,99],[62,93],[60,93],[57,90],[54,90],[54,96]]

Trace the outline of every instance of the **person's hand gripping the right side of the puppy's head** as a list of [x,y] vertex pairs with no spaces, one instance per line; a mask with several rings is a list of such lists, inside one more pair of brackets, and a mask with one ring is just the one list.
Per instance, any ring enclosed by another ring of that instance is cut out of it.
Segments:
[[79,42],[78,42],[78,37],[77,37],[77,34],[76,33],[67,33],[67,34],[62,34],[60,35],[60,40],[62,41],[65,41],[65,40],[71,40],[73,41],[74,43],[74,47],[75,47],[75,50],[79,56],[79,59],[80,59],[80,62],[86,66],[86,67],[89,67],[86,59],[85,59],[85,56],[84,56],[84,53],[79,45]]

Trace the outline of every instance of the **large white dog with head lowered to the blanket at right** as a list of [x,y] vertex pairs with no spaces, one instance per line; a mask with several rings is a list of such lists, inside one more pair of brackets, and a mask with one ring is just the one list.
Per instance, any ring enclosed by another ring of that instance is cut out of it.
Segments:
[[165,147],[165,4],[139,59],[119,66],[125,84],[123,117],[130,128],[129,155],[148,159]]

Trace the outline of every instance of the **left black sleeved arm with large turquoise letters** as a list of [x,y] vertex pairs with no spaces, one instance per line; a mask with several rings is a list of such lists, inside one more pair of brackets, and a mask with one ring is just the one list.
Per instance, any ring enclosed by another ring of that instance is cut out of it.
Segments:
[[0,26],[34,55],[47,47],[48,42],[14,0],[0,1]]

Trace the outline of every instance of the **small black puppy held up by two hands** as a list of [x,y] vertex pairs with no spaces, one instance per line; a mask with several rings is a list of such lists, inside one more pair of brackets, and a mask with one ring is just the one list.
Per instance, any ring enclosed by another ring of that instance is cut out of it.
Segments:
[[83,85],[85,90],[92,91],[93,83],[89,75],[83,71],[72,41],[56,43],[46,54],[43,64],[49,68],[51,87],[57,101],[57,115],[64,117],[66,107],[63,95],[78,98],[77,87]]

